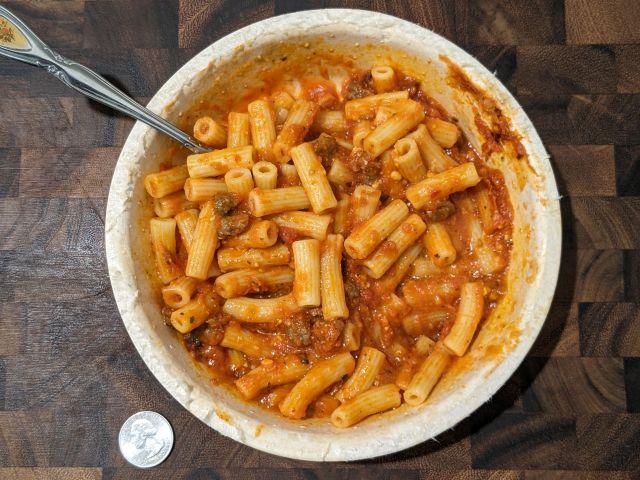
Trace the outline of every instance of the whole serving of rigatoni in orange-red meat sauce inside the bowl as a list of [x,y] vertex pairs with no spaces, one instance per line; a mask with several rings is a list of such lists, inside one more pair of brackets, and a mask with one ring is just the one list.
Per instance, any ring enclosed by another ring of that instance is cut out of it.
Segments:
[[185,112],[214,150],[171,150],[162,161],[184,164],[145,177],[149,238],[165,323],[215,383],[346,428],[428,401],[475,348],[506,290],[513,213],[417,80],[304,67]]

